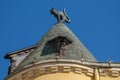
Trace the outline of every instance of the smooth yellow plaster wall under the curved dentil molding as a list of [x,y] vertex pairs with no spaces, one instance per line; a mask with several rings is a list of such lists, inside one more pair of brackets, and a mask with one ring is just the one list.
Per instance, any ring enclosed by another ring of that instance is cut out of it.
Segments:
[[92,80],[91,77],[81,74],[70,73],[53,73],[46,74],[35,78],[34,80]]

